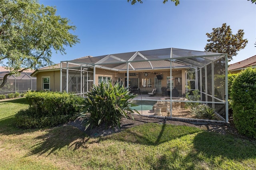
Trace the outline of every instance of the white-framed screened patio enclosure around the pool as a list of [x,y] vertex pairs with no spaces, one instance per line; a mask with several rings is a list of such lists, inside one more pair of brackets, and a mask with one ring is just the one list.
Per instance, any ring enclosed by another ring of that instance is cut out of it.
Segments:
[[[200,121],[184,107],[197,102],[218,115],[209,121],[228,123],[227,68],[227,54],[177,48],[88,56],[60,63],[60,89],[84,95],[93,84],[119,82],[138,101],[153,102],[152,109],[137,109],[142,115]],[[196,90],[199,100],[185,100]]]

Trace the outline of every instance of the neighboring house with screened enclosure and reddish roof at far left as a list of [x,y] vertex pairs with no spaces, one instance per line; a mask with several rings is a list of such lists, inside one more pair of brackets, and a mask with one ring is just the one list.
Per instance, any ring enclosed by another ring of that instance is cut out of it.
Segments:
[[[34,70],[25,70],[17,75],[9,75],[7,77],[7,83],[4,87],[0,88],[0,94],[24,92],[30,90],[36,90],[36,77],[31,77],[30,75]],[[2,83],[4,75],[10,73],[4,67],[0,67],[0,83]]]

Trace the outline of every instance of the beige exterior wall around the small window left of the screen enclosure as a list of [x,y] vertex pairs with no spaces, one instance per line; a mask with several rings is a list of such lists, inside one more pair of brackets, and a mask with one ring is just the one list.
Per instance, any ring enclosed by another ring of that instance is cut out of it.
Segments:
[[60,91],[60,71],[44,71],[38,72],[36,75],[36,90],[43,89],[43,77],[50,77],[50,91]]

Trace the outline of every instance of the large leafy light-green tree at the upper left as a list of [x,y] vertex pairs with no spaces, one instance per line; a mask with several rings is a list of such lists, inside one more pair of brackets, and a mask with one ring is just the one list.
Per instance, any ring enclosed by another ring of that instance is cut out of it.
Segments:
[[10,70],[0,88],[8,75],[51,65],[52,51],[65,54],[64,47],[78,43],[69,22],[37,0],[0,0],[0,65]]

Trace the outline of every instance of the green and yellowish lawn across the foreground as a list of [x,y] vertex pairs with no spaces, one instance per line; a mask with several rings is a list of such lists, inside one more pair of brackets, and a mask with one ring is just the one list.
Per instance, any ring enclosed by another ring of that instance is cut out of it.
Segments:
[[78,128],[22,130],[14,115],[25,99],[0,102],[0,169],[255,169],[256,142],[166,124],[144,124],[106,137]]

